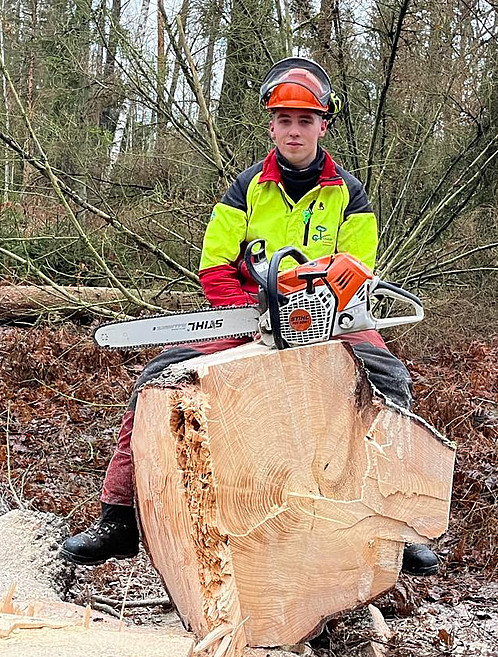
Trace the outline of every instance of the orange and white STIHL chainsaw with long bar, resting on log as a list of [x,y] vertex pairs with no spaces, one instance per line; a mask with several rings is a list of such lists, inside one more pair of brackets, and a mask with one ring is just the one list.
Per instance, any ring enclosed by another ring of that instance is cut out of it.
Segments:
[[[292,258],[297,266],[280,272],[284,258]],[[97,344],[127,349],[260,335],[268,346],[286,349],[424,317],[418,297],[374,276],[347,253],[309,261],[304,253],[287,246],[268,261],[265,241],[259,239],[247,246],[244,261],[259,285],[258,304],[105,324],[95,331]],[[372,305],[382,298],[408,304],[414,312],[377,318]]]

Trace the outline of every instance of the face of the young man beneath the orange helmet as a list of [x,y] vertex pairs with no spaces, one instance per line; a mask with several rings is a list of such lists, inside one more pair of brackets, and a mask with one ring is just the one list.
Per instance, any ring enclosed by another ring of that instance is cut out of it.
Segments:
[[305,169],[313,162],[318,140],[326,132],[327,121],[309,110],[276,110],[270,123],[272,141],[296,169]]

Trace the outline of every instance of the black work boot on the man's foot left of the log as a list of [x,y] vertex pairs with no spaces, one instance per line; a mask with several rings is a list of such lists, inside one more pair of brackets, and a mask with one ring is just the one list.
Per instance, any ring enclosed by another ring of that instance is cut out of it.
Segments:
[[102,516],[81,534],[64,541],[60,556],[82,566],[96,566],[107,559],[128,559],[138,554],[135,509],[102,502]]

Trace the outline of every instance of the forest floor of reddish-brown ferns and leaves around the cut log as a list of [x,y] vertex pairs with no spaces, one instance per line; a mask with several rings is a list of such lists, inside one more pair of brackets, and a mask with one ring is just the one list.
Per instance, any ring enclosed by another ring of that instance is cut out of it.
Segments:
[[[157,352],[106,352],[89,335],[88,327],[67,325],[0,327],[0,513],[55,513],[71,533],[99,515],[120,415],[137,374]],[[435,347],[423,357],[399,347],[398,355],[414,379],[414,410],[458,450],[450,529],[436,545],[440,573],[402,575],[375,602],[391,630],[385,654],[497,656],[498,339]],[[119,615],[124,596],[165,597],[144,552],[76,568],[66,599]],[[179,625],[164,601],[127,608],[125,616],[137,625]],[[364,610],[330,621],[307,654],[360,654],[371,639],[364,623]]]

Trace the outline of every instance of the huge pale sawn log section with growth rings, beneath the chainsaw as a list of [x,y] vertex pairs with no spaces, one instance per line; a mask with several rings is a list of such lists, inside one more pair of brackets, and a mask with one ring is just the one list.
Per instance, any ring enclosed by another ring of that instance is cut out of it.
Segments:
[[201,636],[225,627],[233,654],[298,643],[447,528],[452,446],[372,396],[343,344],[184,367],[190,383],[141,391],[132,444],[152,560]]

